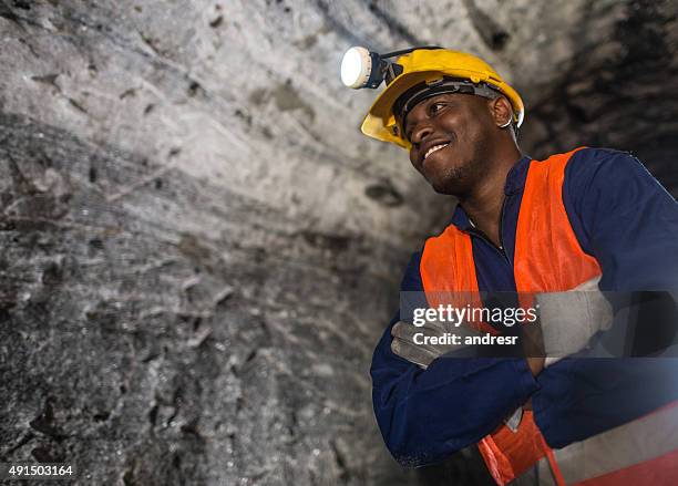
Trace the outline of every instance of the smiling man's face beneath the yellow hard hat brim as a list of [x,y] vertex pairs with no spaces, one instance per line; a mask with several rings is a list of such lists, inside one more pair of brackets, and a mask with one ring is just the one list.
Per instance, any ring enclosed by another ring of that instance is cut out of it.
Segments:
[[496,130],[489,103],[470,94],[439,94],[408,113],[410,162],[435,192],[463,197],[486,174]]

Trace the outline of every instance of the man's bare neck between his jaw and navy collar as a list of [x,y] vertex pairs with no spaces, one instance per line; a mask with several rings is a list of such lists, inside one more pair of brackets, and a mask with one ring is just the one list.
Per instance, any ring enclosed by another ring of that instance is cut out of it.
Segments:
[[496,247],[501,245],[500,224],[506,176],[521,157],[517,147],[497,155],[489,164],[492,170],[483,177],[481,184],[466,197],[460,197],[460,204],[475,228],[487,236]]

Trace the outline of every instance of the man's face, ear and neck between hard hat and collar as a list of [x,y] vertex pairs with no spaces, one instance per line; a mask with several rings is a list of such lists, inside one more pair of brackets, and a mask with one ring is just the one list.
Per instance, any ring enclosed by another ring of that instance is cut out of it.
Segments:
[[401,99],[405,106],[397,103],[396,110],[411,144],[414,168],[435,192],[456,196],[476,228],[499,247],[503,186],[521,152],[512,128],[497,130],[511,126],[511,103],[499,93],[490,93],[494,96],[490,100],[443,93],[414,106],[409,106],[412,102],[407,102],[405,93]]

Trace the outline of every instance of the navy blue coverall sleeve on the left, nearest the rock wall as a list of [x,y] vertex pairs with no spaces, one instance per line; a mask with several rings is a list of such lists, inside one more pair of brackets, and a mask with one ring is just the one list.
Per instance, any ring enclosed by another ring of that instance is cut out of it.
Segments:
[[[401,290],[421,291],[415,254]],[[391,328],[372,358],[372,402],[387,447],[405,466],[443,461],[476,443],[537,390],[523,359],[451,359],[424,371],[391,351]]]

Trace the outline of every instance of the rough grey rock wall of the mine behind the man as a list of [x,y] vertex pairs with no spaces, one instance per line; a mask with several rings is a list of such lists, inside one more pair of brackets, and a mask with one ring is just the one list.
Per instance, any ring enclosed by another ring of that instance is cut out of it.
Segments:
[[[0,0],[0,461],[76,484],[484,484],[400,468],[370,403],[409,254],[440,229],[359,133],[353,44],[484,56],[521,145],[637,154],[674,195],[671,1]],[[466,461],[469,458],[469,461]]]

